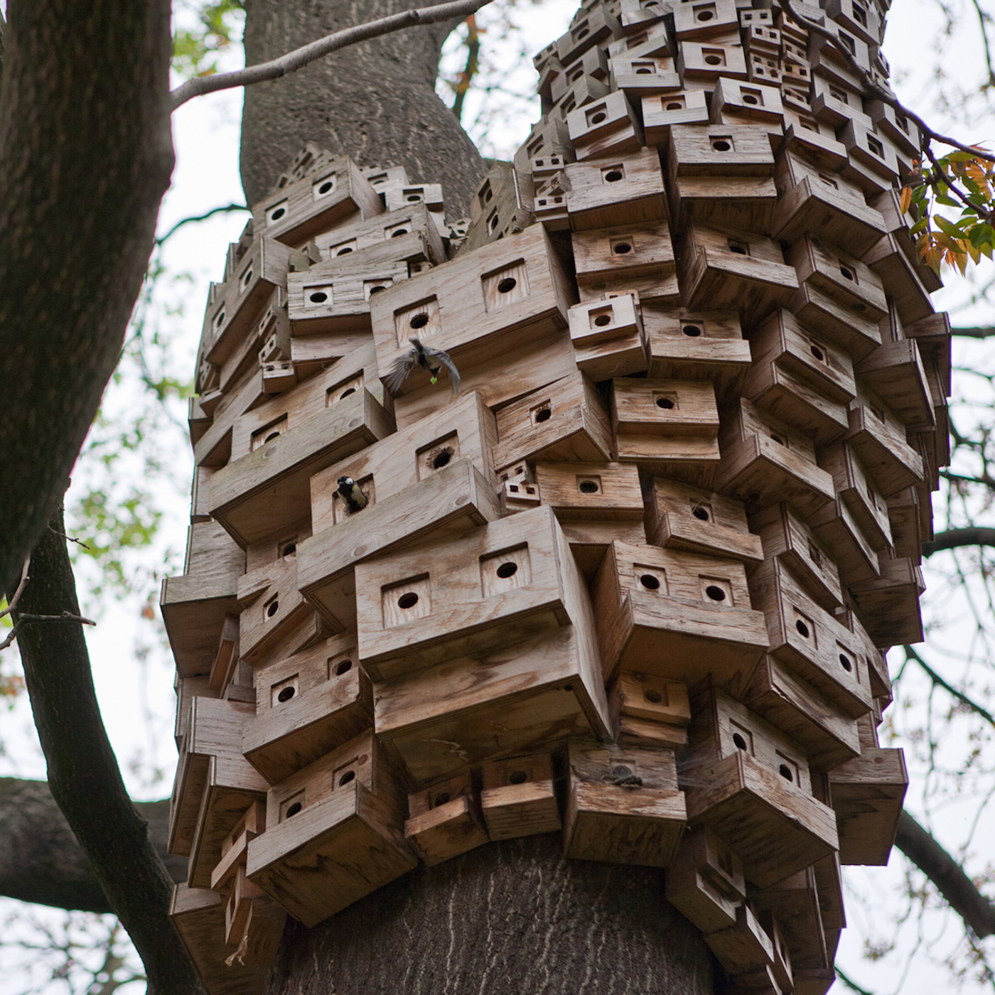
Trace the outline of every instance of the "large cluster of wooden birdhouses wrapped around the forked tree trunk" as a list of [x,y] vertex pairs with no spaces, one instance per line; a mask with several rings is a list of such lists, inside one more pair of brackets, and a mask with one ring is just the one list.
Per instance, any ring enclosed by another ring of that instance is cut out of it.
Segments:
[[313,147],[255,207],[161,598],[212,993],[261,989],[288,914],[535,833],[666,868],[728,991],[832,984],[948,456],[918,135],[862,96],[885,14],[585,3],[469,218]]

